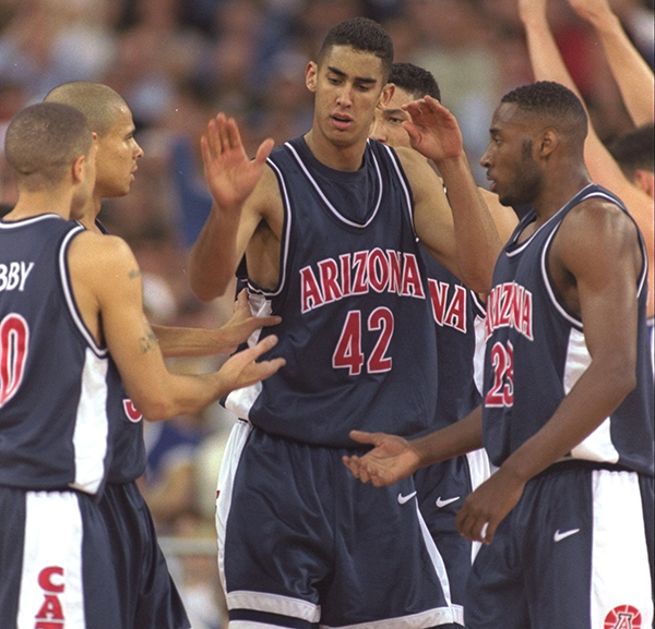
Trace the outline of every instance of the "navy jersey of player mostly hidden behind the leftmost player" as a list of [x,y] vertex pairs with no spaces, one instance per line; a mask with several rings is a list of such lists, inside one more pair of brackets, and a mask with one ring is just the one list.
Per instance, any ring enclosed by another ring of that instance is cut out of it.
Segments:
[[[96,226],[108,233],[96,219]],[[109,483],[129,483],[139,479],[145,471],[146,453],[143,441],[143,415],[128,397],[122,380],[111,380],[108,390],[107,412],[115,425],[111,446],[114,457],[109,467]]]

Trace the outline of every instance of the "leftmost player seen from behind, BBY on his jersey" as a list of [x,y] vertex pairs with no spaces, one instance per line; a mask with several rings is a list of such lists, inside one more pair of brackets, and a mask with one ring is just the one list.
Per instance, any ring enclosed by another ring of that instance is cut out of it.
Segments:
[[[157,420],[270,376],[261,343],[202,376],[166,370],[142,310],[139,267],[80,218],[96,145],[60,104],[19,112],[5,135],[19,201],[0,221],[0,626],[116,629],[121,576],[97,500],[114,456],[122,379]],[[129,531],[139,535],[140,531]]]

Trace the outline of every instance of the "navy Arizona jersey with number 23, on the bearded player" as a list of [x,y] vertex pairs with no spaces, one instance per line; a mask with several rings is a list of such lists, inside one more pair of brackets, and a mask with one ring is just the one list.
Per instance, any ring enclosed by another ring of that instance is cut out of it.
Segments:
[[[562,220],[591,197],[616,203],[627,213],[614,194],[590,184],[519,243],[519,234],[535,220],[531,210],[498,259],[487,302],[483,415],[485,447],[496,465],[544,426],[591,363],[582,320],[562,304],[548,270],[550,243]],[[647,262],[641,233],[640,242],[638,385],[568,458],[653,474],[653,375],[645,338]]]

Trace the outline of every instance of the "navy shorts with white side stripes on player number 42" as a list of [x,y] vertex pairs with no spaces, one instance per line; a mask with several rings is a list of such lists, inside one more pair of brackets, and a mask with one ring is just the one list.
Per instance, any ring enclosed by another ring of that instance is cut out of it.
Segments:
[[216,510],[230,629],[453,622],[413,479],[365,485],[344,453],[233,428]]

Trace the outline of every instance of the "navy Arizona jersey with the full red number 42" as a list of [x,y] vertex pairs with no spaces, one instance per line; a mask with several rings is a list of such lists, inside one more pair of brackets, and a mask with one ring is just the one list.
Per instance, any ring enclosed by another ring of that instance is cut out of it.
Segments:
[[413,199],[397,156],[369,141],[362,166],[319,162],[302,138],[269,164],[285,220],[278,286],[249,282],[255,312],[282,315],[271,355],[286,365],[227,398],[262,430],[348,447],[348,432],[414,435],[436,409],[437,351]]

